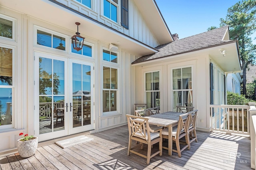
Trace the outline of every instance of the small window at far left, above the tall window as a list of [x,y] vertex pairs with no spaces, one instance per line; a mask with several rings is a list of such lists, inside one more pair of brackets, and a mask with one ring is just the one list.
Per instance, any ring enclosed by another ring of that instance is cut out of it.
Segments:
[[15,40],[16,19],[0,14],[0,36]]

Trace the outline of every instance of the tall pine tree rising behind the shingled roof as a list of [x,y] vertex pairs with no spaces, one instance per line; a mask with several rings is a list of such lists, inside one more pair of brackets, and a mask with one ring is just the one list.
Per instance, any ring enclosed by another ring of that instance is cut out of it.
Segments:
[[243,70],[243,95],[246,95],[246,68],[255,62],[256,45],[250,36],[256,30],[256,0],[243,0],[228,8],[226,19],[220,19],[220,26],[228,25],[230,39],[238,40]]

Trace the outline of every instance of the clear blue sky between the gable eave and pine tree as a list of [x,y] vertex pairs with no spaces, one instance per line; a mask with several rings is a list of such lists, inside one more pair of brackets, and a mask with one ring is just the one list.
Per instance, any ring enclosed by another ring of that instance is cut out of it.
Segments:
[[[242,1],[242,0],[240,0]],[[171,32],[179,39],[206,32],[211,26],[220,27],[228,8],[239,0],[156,0],[156,4]],[[256,44],[256,33],[252,35]]]

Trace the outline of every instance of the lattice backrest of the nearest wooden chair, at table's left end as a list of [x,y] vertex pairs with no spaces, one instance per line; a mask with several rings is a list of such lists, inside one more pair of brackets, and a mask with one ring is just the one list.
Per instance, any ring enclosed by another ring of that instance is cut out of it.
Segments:
[[152,131],[148,125],[148,118],[133,115],[126,115],[126,117],[129,128],[129,136],[138,137],[148,141],[148,139],[150,139],[150,131]]

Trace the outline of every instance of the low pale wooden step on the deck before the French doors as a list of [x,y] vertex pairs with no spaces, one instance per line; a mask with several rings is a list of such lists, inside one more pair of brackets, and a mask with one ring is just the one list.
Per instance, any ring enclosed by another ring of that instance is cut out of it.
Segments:
[[90,138],[86,135],[81,135],[81,136],[76,136],[74,138],[57,141],[57,142],[55,142],[55,144],[60,146],[62,149],[64,149],[64,148],[74,146],[76,144],[80,144],[80,143],[87,142],[90,140],[93,140],[93,138]]

